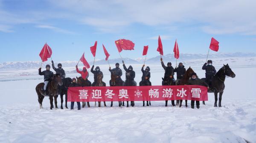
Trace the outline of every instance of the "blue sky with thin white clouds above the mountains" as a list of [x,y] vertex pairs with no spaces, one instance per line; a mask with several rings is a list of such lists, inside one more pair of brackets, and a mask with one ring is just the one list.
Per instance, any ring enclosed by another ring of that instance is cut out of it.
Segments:
[[[0,62],[40,61],[44,43],[54,61],[79,60],[98,41],[96,59],[118,58],[114,41],[129,39],[134,51],[122,57],[158,56],[157,37],[164,54],[172,53],[177,39],[180,53],[204,53],[211,37],[218,52],[256,52],[254,0],[0,0]],[[210,53],[214,53],[211,51]]]

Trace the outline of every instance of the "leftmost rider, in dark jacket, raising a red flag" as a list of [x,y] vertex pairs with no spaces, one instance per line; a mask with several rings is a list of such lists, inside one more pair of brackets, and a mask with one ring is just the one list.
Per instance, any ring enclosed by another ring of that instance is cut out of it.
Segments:
[[49,83],[49,81],[51,81],[52,77],[53,77],[53,73],[52,71],[50,71],[51,66],[49,64],[46,65],[46,70],[44,70],[43,72],[41,72],[41,67],[38,69],[39,70],[39,75],[43,76],[44,75],[44,92],[43,94],[46,95],[46,87],[47,84]]

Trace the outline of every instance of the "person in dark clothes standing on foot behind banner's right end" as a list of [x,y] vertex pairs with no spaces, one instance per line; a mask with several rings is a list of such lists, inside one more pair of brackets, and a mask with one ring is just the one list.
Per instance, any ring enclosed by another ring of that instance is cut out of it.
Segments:
[[[196,73],[191,74],[191,79],[189,79],[186,85],[201,85],[209,89],[209,85],[203,80],[199,79]],[[195,106],[195,101],[191,100],[191,108],[194,109],[194,106]],[[196,101],[196,108],[199,109],[199,107],[200,107],[200,102]]]

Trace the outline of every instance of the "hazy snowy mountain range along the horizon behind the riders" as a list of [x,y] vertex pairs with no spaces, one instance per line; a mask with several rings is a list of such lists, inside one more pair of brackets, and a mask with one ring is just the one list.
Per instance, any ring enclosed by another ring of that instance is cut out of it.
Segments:
[[[174,62],[174,55],[166,54],[163,57],[164,61],[171,61]],[[179,62],[186,62],[190,60],[198,60],[198,59],[206,59],[206,54],[193,54],[193,53],[180,53],[180,58],[178,59]],[[231,57],[256,57],[256,53],[214,53],[209,54],[208,59],[215,59],[215,58],[231,58]],[[128,64],[142,64],[144,62],[144,57],[142,58],[136,58],[136,59],[130,59],[130,58],[123,58],[125,63]],[[122,59],[109,59],[108,60],[110,64],[115,64],[116,62],[122,63]],[[148,58],[146,60],[147,64],[159,64],[160,63],[160,56],[156,56],[153,58]],[[63,62],[55,62],[55,66],[57,67],[57,64],[61,63],[63,67],[74,67],[77,64],[77,61],[63,61]],[[44,62],[42,64],[42,67],[45,67],[46,64],[50,64],[50,61]],[[90,65],[93,64],[93,61],[89,62]],[[104,65],[108,64],[105,59],[98,60],[95,62],[97,65]],[[40,67],[41,62],[40,61],[28,61],[28,62],[3,62],[0,63],[0,70],[11,70],[11,69],[33,69]],[[79,63],[79,66],[83,66],[82,63]]]

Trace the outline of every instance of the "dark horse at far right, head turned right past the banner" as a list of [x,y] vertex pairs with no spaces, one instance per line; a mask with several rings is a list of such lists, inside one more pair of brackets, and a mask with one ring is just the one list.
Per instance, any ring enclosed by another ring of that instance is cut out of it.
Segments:
[[[219,103],[218,107],[221,107],[221,98],[222,94],[224,92],[225,84],[224,81],[227,77],[235,78],[236,74],[231,70],[229,65],[223,64],[223,67],[221,67],[218,72],[212,76],[212,81],[210,81],[210,87],[208,90],[208,93],[214,93],[215,96],[215,102],[214,107],[217,107],[217,101],[218,101],[218,93],[219,93]],[[202,80],[206,80],[206,78],[203,78]]]

